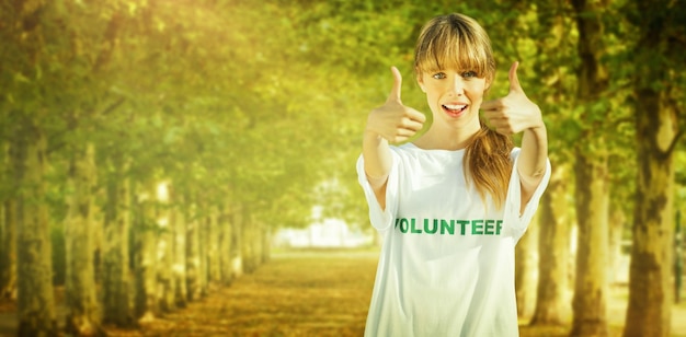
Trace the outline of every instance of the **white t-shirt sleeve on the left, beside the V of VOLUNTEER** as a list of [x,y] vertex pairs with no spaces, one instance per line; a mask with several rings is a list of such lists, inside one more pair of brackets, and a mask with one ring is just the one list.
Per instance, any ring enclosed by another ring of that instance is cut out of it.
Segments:
[[386,209],[376,200],[376,195],[365,173],[364,158],[357,159],[357,181],[365,193],[367,205],[369,206],[369,221],[379,231],[390,228],[393,223],[398,210],[398,154],[391,151],[392,165],[386,185]]

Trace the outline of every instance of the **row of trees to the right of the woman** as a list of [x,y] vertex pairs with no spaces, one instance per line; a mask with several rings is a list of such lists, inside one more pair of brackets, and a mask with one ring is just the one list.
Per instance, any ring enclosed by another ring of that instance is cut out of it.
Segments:
[[[545,32],[535,59],[548,85],[537,102],[557,116],[548,119],[556,172],[541,201],[531,324],[564,321],[571,222],[564,198],[573,190],[579,234],[571,335],[607,336],[607,270],[615,256],[608,248],[620,248],[622,224],[629,222],[625,336],[670,335],[674,153],[683,143],[686,66],[678,51],[686,42],[685,18],[675,5],[678,1],[535,4]],[[570,35],[572,44],[564,38]]]

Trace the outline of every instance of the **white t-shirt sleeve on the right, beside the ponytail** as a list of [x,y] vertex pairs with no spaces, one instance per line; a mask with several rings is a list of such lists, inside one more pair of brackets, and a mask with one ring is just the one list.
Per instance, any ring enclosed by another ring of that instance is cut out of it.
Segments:
[[512,170],[512,176],[510,178],[510,186],[507,188],[507,201],[505,204],[505,218],[507,221],[511,221],[511,229],[513,230],[513,235],[516,240],[519,240],[524,232],[526,231],[529,222],[534,218],[536,210],[538,209],[538,202],[540,201],[540,197],[544,195],[546,187],[548,187],[548,182],[550,181],[550,160],[547,160],[546,163],[546,173],[544,174],[544,178],[536,187],[531,199],[524,208],[524,211],[519,214],[519,206],[522,205],[522,185],[519,179],[519,172],[517,172],[517,161],[519,160],[521,149],[515,149],[512,152],[512,156],[514,158],[514,164]]

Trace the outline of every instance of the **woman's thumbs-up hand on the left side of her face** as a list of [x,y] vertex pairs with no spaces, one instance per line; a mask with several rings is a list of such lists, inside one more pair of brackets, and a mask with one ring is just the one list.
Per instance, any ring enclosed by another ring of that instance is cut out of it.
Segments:
[[407,141],[424,126],[424,114],[402,104],[400,92],[402,75],[396,67],[391,67],[393,73],[393,88],[384,105],[369,113],[366,132],[374,132],[391,143]]

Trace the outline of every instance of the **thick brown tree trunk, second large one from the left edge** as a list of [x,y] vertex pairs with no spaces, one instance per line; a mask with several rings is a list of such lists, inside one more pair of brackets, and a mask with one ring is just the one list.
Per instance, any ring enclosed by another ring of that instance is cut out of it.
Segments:
[[67,279],[66,329],[77,336],[103,335],[100,304],[95,298],[93,266],[93,189],[95,150],[92,143],[73,149],[69,168],[69,211],[65,231]]

